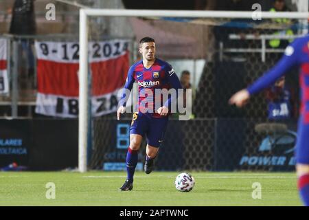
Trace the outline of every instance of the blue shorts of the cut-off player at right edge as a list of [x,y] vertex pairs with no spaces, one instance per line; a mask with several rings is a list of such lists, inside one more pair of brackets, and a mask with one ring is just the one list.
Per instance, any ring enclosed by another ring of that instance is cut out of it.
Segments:
[[309,124],[304,123],[302,116],[298,122],[295,155],[297,164],[309,165]]

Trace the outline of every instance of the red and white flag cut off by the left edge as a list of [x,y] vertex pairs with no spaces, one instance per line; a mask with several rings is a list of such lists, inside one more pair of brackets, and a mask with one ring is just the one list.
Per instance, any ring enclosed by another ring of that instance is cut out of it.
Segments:
[[7,39],[0,39],[0,94],[8,94]]

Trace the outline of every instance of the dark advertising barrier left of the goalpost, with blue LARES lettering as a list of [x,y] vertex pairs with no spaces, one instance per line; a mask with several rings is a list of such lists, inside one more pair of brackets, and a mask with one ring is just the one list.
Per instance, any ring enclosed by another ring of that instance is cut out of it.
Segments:
[[61,170],[78,164],[78,120],[0,120],[0,168]]

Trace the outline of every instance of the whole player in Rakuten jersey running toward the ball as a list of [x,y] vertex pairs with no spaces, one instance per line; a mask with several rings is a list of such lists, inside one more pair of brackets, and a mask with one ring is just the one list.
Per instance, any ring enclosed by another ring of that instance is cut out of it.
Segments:
[[[126,155],[127,179],[124,185],[119,188],[122,191],[133,189],[133,176],[137,165],[137,153],[141,146],[143,136],[147,137],[145,173],[152,172],[154,159],[157,156],[159,147],[163,142],[163,136],[168,124],[169,107],[174,100],[173,96],[163,100],[163,105],[155,109],[156,99],[155,89],[181,89],[181,83],[176,76],[174,69],[165,61],[155,57],[155,40],[144,37],[139,41],[139,52],[143,59],[132,65],[128,71],[128,78],[124,89],[131,91],[133,83],[137,81],[139,85],[139,106],[138,112],[133,114],[130,126],[130,146]],[[149,96],[149,92],[154,96]],[[176,98],[176,97],[174,97]],[[124,113],[128,97],[123,94],[117,110],[117,119]],[[147,104],[146,104],[147,102]],[[147,106],[146,106],[147,105]]]

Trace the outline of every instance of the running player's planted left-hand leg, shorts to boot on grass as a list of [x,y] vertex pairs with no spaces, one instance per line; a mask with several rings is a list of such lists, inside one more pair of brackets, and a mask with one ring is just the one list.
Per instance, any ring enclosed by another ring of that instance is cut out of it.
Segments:
[[130,126],[130,146],[126,153],[127,179],[119,190],[128,191],[133,189],[134,173],[138,161],[139,148],[141,146],[141,141],[143,140],[145,125],[146,121],[143,115],[134,113]]

